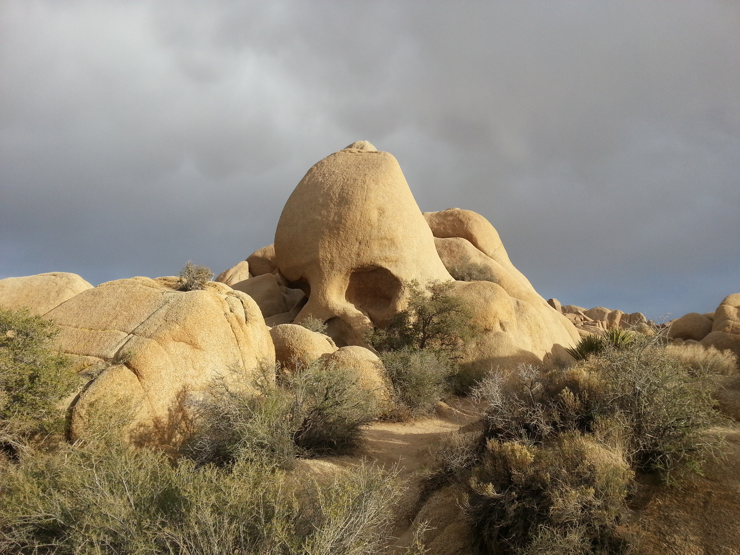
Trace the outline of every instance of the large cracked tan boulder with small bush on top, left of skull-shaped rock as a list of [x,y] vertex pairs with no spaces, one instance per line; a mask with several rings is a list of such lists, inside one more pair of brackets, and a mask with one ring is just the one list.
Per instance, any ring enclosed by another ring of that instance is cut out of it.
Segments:
[[189,401],[217,380],[243,387],[270,377],[275,350],[257,304],[222,283],[181,292],[173,280],[102,283],[47,314],[62,352],[104,369],[72,408],[73,437],[84,436],[96,403],[124,402],[130,441],[176,445]]

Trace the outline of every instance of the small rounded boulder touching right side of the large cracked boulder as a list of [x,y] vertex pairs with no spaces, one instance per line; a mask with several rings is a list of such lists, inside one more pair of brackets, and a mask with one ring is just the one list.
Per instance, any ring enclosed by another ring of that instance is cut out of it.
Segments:
[[322,354],[337,351],[332,339],[297,324],[280,324],[270,330],[275,360],[287,371],[305,368]]

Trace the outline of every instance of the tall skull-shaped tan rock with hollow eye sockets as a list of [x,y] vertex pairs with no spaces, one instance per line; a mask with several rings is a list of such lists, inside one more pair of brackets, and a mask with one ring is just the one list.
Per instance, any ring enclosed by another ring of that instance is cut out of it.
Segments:
[[386,325],[404,283],[451,280],[396,159],[366,141],[309,169],[277,223],[275,260],[309,295],[295,321],[326,322],[340,345]]

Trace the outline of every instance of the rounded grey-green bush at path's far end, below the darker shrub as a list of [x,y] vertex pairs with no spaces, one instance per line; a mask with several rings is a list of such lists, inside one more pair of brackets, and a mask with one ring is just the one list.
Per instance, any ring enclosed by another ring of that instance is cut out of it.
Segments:
[[449,390],[454,363],[443,353],[406,347],[380,354],[393,387],[391,418],[406,420],[429,414]]

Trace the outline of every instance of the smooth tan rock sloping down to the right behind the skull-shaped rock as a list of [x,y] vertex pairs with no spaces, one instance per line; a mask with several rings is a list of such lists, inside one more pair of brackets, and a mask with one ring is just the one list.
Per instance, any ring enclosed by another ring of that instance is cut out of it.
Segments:
[[575,344],[578,332],[514,268],[491,223],[459,208],[426,212],[424,217],[441,260],[459,280],[457,295],[474,309],[471,324],[482,332],[467,343],[468,368],[538,363],[553,352],[567,357],[565,348]]

